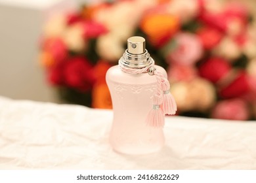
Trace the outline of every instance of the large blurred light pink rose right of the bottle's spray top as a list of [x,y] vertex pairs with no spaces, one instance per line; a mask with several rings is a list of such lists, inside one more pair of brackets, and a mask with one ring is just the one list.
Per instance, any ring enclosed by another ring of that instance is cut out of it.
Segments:
[[167,55],[167,59],[180,65],[193,65],[203,54],[200,39],[192,33],[175,36],[177,47]]

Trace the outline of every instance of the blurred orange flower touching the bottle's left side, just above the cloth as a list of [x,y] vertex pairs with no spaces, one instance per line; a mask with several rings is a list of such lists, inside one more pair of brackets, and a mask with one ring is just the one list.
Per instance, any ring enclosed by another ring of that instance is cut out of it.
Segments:
[[93,108],[112,108],[110,91],[105,83],[97,83],[93,87],[92,92],[92,107]]

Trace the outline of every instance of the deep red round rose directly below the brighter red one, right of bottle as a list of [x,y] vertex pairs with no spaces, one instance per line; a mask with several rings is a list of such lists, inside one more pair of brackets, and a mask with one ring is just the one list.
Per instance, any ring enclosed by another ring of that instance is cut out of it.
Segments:
[[222,58],[210,58],[200,65],[199,73],[211,82],[218,82],[230,71],[230,64]]

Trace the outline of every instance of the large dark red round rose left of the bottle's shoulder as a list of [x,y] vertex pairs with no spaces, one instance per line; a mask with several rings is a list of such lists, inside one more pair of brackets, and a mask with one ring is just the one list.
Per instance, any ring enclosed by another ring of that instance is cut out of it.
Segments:
[[65,83],[83,92],[90,90],[95,82],[93,67],[85,58],[70,58],[63,69]]

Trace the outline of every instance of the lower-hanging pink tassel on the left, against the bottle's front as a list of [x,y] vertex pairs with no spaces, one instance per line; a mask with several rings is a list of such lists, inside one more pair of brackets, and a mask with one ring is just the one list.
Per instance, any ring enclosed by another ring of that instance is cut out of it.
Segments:
[[160,108],[162,97],[154,97],[153,108],[148,113],[146,123],[152,127],[163,127],[164,125],[164,113]]

